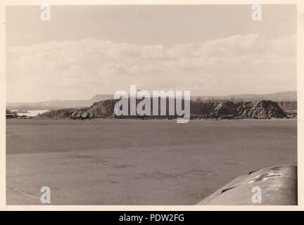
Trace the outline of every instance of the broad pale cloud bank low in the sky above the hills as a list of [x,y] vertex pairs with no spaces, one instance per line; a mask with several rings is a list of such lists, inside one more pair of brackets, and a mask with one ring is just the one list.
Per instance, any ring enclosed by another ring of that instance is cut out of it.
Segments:
[[238,34],[173,47],[88,38],[14,46],[6,56],[8,101],[89,98],[129,84],[206,95],[296,88],[295,35]]

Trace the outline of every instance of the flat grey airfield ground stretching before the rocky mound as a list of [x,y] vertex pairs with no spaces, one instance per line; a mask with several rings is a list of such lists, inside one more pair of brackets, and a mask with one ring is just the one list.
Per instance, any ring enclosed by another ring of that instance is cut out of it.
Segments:
[[195,205],[297,162],[296,120],[6,120],[6,203]]

